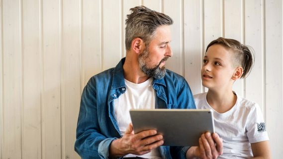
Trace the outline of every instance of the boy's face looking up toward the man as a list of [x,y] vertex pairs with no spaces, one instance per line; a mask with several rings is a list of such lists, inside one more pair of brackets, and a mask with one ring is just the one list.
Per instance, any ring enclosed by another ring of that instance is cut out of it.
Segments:
[[201,68],[202,85],[215,90],[232,88],[234,72],[232,50],[219,44],[210,46]]

